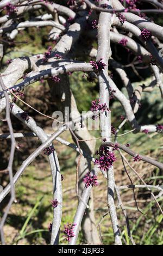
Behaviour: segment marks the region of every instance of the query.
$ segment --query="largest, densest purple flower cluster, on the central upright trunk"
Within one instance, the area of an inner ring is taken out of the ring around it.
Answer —
[[[99,164],[99,168],[101,170],[107,171],[112,166],[112,164],[116,161],[116,157],[114,153],[108,149],[108,147],[105,147],[102,150],[103,152],[99,156],[99,159],[96,158],[94,163]],[[99,155],[98,152],[96,154]]]

